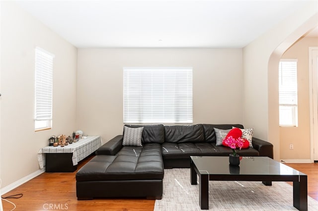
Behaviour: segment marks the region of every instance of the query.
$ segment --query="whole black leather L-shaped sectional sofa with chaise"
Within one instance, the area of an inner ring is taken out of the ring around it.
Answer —
[[[101,146],[76,174],[78,200],[96,197],[161,199],[164,168],[190,167],[190,156],[229,156],[216,146],[214,128],[243,128],[241,124],[126,125],[144,127],[142,147],[123,146],[118,135]],[[253,148],[240,156],[273,158],[273,145],[253,137]]]

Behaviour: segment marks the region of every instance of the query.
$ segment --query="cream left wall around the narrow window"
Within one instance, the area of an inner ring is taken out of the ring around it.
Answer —
[[[76,129],[77,49],[14,2],[1,1],[1,188],[39,169],[51,135]],[[35,47],[53,54],[53,128],[34,132]],[[3,193],[2,193],[3,194]]]

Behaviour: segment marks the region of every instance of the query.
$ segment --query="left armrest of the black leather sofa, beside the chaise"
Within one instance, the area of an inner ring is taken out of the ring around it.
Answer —
[[[110,155],[114,156],[118,153],[118,151],[123,147],[123,136],[118,135],[111,140],[109,140],[107,143],[103,144],[101,147],[99,147],[95,154],[96,155]]]

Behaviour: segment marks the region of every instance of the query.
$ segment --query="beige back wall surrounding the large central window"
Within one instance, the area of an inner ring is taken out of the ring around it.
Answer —
[[[243,123],[241,49],[79,49],[78,128],[123,131],[123,67],[193,67],[193,123]]]

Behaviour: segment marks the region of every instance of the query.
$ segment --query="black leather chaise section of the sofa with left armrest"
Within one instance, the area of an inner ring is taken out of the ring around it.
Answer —
[[[160,144],[121,146],[118,151],[122,140],[122,136],[116,136],[107,142],[79,169],[76,174],[78,200],[95,197],[161,199],[163,161]]]

